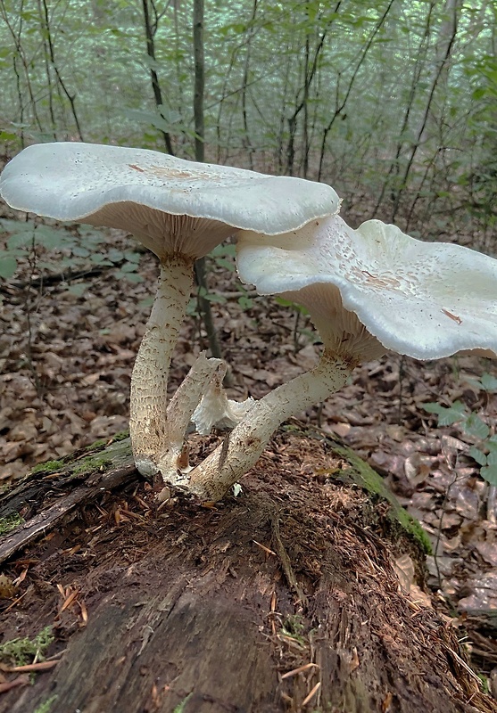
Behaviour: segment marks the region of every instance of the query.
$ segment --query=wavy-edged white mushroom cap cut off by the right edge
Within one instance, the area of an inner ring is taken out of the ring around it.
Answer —
[[[475,250],[332,216],[277,237],[239,234],[236,263],[261,294],[307,307],[338,354],[497,356],[497,260]]]

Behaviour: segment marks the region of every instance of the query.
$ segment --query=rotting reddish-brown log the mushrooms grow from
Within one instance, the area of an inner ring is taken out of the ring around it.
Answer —
[[[51,625],[58,660],[0,713],[497,710],[458,631],[402,591],[394,560],[422,579],[422,541],[343,445],[280,432],[243,493],[209,508],[157,507],[126,441],[95,458],[0,498],[0,517],[26,520],[0,539],[21,579],[3,641]]]

